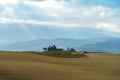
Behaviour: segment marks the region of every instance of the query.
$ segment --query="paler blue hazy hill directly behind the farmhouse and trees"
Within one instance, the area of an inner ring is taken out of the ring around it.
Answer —
[[[57,39],[40,39],[32,41],[24,41],[13,44],[0,46],[0,50],[9,51],[42,51],[43,47],[55,44],[58,47],[67,49],[79,47],[88,43],[92,43],[87,39],[71,39],[71,38],[57,38]]]

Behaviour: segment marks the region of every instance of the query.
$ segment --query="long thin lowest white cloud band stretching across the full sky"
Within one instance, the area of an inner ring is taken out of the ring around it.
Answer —
[[[10,23],[17,23],[17,24],[31,24],[31,25],[38,25],[38,26],[54,26],[54,27],[89,27],[89,28],[96,28],[108,32],[117,32],[120,33],[120,28],[117,25],[110,24],[110,23],[66,23],[66,22],[57,22],[57,21],[40,21],[40,20],[32,20],[32,19],[11,19],[6,17],[0,17],[1,24],[10,24]]]

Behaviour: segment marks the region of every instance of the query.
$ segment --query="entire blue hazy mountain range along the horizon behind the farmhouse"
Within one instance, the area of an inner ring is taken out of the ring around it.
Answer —
[[[0,46],[7,51],[42,51],[44,47],[55,44],[60,48],[75,48],[78,51],[120,53],[120,38],[104,39],[39,39]]]

